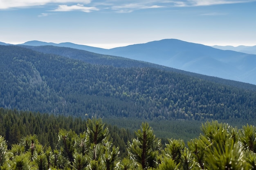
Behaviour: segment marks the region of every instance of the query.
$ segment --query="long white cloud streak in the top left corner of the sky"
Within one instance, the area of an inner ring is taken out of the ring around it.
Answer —
[[[49,3],[83,3],[89,4],[91,0],[0,0],[0,9],[33,7]]]

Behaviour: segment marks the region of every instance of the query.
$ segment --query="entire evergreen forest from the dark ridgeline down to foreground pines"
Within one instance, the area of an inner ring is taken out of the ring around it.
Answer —
[[[0,46],[1,170],[254,170],[256,86],[54,46]]]

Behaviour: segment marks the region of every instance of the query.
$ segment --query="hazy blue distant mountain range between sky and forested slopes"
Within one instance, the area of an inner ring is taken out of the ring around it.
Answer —
[[[203,75],[256,84],[256,55],[224,50],[224,47],[221,50],[216,49],[218,46],[213,48],[176,39],[165,39],[113,49],[101,49],[69,42],[55,44],[30,41],[19,45],[70,47],[94,53],[151,62]],[[247,49],[248,51],[249,47],[242,47],[240,46],[239,50],[246,51]],[[250,50],[252,51],[252,49],[253,47]]]

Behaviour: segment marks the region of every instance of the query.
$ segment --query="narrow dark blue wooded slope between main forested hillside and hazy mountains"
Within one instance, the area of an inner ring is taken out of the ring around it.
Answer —
[[[76,60],[81,60],[83,62],[87,62],[90,64],[101,64],[107,66],[115,66],[115,67],[150,67],[150,68],[157,68],[164,71],[172,71],[175,73],[182,73],[184,75],[189,75],[193,77],[198,77],[201,79],[209,80],[211,82],[216,82],[220,84],[231,85],[234,87],[245,88],[256,90],[256,86],[248,83],[243,82],[236,82],[228,79],[222,79],[218,77],[206,76],[197,73],[191,73],[187,71],[182,71],[179,69],[161,66],[158,64],[153,64],[149,62],[143,62],[138,60],[132,60],[125,57],[116,57],[112,55],[102,55],[97,53],[92,53],[89,51],[78,50],[78,49],[71,49],[67,47],[57,47],[57,46],[23,46],[28,49],[32,49],[34,51],[48,53],[48,54],[55,54],[61,55],[63,57],[68,57]],[[207,65],[204,65],[207,67]]]

